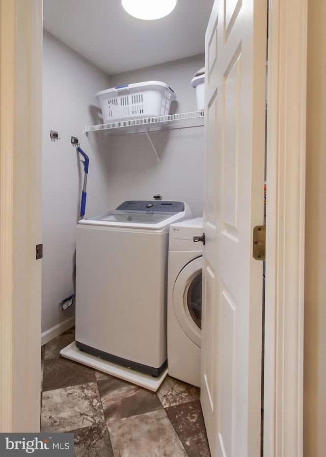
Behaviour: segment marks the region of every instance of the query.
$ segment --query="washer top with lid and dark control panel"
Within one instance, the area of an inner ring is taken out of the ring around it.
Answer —
[[[183,201],[127,200],[115,210],[78,223],[159,230],[191,216],[191,210]]]

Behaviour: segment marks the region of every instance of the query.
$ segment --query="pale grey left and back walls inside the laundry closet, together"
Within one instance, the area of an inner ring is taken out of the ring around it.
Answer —
[[[88,154],[86,217],[102,214],[126,199],[184,200],[194,216],[202,215],[203,127],[155,132],[151,139],[160,156],[156,162],[145,134],[111,137],[84,134],[84,124],[101,123],[94,97],[116,85],[163,81],[177,94],[170,113],[197,110],[194,73],[204,66],[195,56],[108,77],[61,41],[44,32],[43,42],[43,163],[42,163],[42,334],[43,342],[73,319],[74,307],[60,302],[74,292],[75,227],[79,218],[84,166],[70,137],[78,137]],[[51,140],[50,130],[59,132]],[[72,321],[73,323],[73,321]],[[52,329],[52,333],[50,330]],[[54,332],[54,333],[53,333]],[[45,336],[48,335],[48,338]]]

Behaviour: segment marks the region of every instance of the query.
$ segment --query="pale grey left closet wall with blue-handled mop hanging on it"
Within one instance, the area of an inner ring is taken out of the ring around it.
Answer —
[[[108,75],[47,32],[43,35],[42,333],[74,315],[60,301],[74,292],[75,227],[84,180],[75,136],[89,156],[86,215],[107,206],[107,153],[102,137],[87,138],[84,124],[98,122],[97,91]],[[50,139],[50,130],[59,140]]]

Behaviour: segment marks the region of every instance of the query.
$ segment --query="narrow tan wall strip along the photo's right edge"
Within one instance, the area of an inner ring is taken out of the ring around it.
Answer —
[[[326,3],[308,2],[304,457],[326,449]]]

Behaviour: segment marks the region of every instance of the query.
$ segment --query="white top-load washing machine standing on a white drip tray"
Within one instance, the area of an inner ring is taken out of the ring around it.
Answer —
[[[128,200],[78,222],[77,348],[146,375],[166,370],[169,226],[191,216],[182,201]]]

